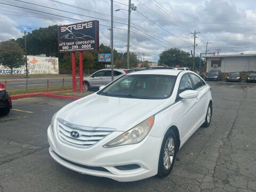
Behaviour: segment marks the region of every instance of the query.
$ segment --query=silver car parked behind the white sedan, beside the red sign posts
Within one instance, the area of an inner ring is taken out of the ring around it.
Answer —
[[[130,72],[130,69],[114,69],[114,79]],[[111,82],[111,69],[100,69],[88,77],[84,77],[83,90],[88,91],[90,87],[100,87]]]

